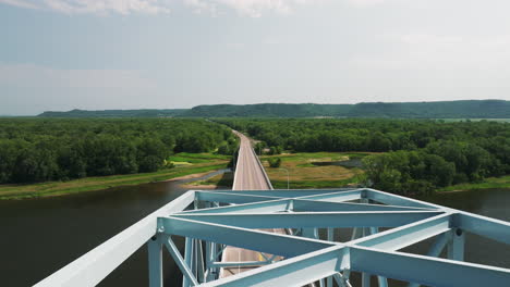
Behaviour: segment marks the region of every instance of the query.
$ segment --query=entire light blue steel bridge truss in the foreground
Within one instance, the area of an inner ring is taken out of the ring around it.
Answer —
[[[345,227],[352,239],[333,241],[335,229]],[[326,238],[318,228],[327,228]],[[463,261],[466,232],[510,244],[508,222],[374,189],[191,190],[36,286],[96,285],[145,244],[150,287],[162,286],[163,248],[184,287],[351,286],[351,272],[362,273],[362,286],[372,275],[378,286],[387,278],[413,287],[510,286],[509,269]],[[184,255],[172,236],[185,237]],[[399,251],[433,237],[426,255]],[[259,261],[221,262],[226,246],[258,251]],[[444,249],[447,259],[439,258]],[[234,266],[251,269],[218,279],[220,269]]]

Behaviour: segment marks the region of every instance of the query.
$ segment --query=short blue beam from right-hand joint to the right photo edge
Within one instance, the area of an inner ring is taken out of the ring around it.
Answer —
[[[461,212],[454,215],[457,228],[467,230],[510,245],[510,223],[473,213]]]

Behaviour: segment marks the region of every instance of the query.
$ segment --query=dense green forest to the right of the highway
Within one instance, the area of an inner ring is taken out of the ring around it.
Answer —
[[[398,194],[510,174],[510,124],[425,120],[241,120],[219,122],[295,152],[385,152],[364,160],[368,186]]]

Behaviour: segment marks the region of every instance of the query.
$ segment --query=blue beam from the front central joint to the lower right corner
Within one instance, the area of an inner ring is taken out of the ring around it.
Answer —
[[[427,286],[508,286],[510,270],[369,248],[350,248],[351,269]]]

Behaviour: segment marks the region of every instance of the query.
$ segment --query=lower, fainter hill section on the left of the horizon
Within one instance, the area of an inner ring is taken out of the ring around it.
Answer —
[[[38,116],[42,117],[168,117],[175,116],[186,111],[186,109],[169,110],[105,110],[86,111],[72,110],[69,112],[44,112]]]

